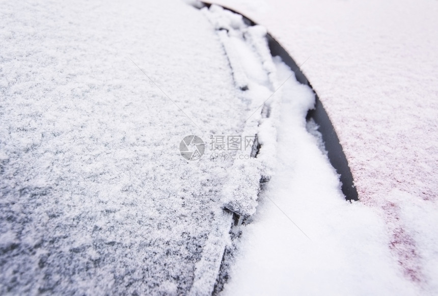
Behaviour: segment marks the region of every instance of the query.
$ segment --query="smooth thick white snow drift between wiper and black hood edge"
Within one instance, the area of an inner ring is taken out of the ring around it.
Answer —
[[[277,60],[279,79],[290,70]],[[280,75],[282,74],[282,75]],[[306,129],[313,92],[289,79],[282,87],[278,166],[241,226],[225,295],[418,293],[387,248],[382,219],[345,201],[318,139]]]

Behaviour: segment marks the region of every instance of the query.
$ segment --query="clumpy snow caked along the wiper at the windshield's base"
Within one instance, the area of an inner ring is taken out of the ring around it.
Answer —
[[[272,58],[270,55],[267,32],[263,26],[251,26],[245,23],[241,15],[215,5],[203,8],[202,12],[220,37],[235,86],[241,90],[240,99],[247,103],[249,112],[245,115],[242,134],[255,135],[256,139],[252,146],[237,152],[222,190],[223,208],[234,213],[237,218],[235,224],[239,227],[242,221],[250,221],[249,218],[256,212],[261,186],[270,179],[276,165],[276,126],[279,124],[282,100],[279,87],[284,83],[277,77],[277,68],[279,65],[287,66],[278,57]],[[288,78],[292,76],[293,73],[290,73]],[[294,77],[292,79],[295,80]],[[305,109],[302,118],[314,104],[314,95],[310,88],[308,91],[310,95],[300,97],[304,99]],[[251,157],[239,157],[244,155]],[[228,227],[223,230],[222,241],[227,244],[209,244],[217,247],[210,248],[209,253],[204,252],[197,265],[192,291],[211,293],[212,283],[214,293],[222,290],[228,278],[229,266],[233,263],[232,252],[237,249],[235,240],[240,236],[239,229],[230,230]],[[215,261],[216,258],[222,258],[222,262]],[[214,268],[212,260],[216,264]],[[217,270],[217,263],[222,263],[220,270]]]

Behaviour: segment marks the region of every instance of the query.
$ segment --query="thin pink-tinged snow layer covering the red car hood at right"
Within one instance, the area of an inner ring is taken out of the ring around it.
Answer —
[[[400,274],[395,282],[414,287],[404,293],[436,294],[437,3],[216,3],[265,25],[298,65],[305,62],[301,68],[335,126],[361,203],[377,215],[368,223],[381,224],[375,230],[384,235],[378,240],[380,249],[386,248],[394,257],[382,264],[385,269],[390,266],[391,273],[393,265],[398,265]],[[324,223],[336,214],[327,213]],[[360,226],[358,229],[362,231]],[[341,231],[337,235],[339,244],[359,245]],[[318,270],[318,266],[314,268]],[[392,279],[391,273],[382,276]],[[372,285],[381,287],[377,293],[396,293],[378,283],[375,279]]]

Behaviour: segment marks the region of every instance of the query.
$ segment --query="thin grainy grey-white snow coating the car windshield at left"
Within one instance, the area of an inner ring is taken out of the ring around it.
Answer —
[[[213,26],[179,1],[0,7],[0,293],[188,293],[232,162],[179,143],[247,115]]]

